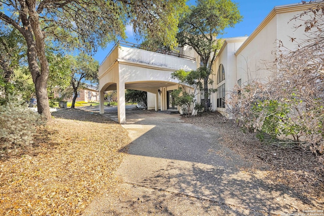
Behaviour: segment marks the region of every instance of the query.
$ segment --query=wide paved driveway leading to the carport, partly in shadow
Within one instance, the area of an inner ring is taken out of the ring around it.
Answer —
[[[183,123],[179,115],[129,109],[126,117],[123,126],[133,142],[116,174],[124,184],[116,195],[96,199],[85,215],[284,215],[308,209],[292,188],[251,171],[248,161],[220,144],[216,131]]]

